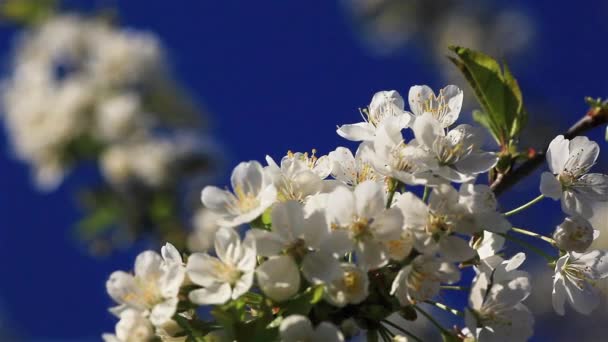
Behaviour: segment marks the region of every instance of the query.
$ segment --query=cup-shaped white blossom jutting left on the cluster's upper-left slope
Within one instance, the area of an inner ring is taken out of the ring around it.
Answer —
[[[255,220],[277,198],[277,190],[256,161],[237,165],[230,183],[234,194],[215,186],[206,186],[201,194],[203,205],[221,217],[218,222],[224,227]]]

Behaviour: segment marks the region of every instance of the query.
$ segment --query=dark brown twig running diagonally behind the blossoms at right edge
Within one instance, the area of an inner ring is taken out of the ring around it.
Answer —
[[[572,139],[578,135],[608,123],[608,111],[601,108],[591,108],[585,116],[583,116],[578,122],[572,125],[564,137],[566,139]],[[545,154],[549,144],[543,148],[542,152],[536,153],[534,156],[523,162],[519,167],[511,170],[510,172],[497,177],[496,181],[492,183],[492,190],[496,196],[502,195],[506,190],[517,184],[520,180],[534,172],[540,167],[545,161]]]

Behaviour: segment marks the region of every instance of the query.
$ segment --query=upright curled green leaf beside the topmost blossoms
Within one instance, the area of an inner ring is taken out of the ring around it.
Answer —
[[[471,49],[450,47],[457,57],[449,59],[460,69],[482,110],[473,118],[486,127],[496,142],[506,147],[516,140],[527,121],[521,89],[508,66]]]

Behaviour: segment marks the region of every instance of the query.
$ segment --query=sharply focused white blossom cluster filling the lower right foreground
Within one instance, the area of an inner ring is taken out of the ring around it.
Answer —
[[[456,125],[462,101],[456,86],[438,94],[414,86],[407,111],[399,93],[382,91],[361,111],[364,121],[338,127],[359,142],[355,153],[338,147],[321,157],[289,152],[279,163],[240,163],[230,190],[202,191],[213,213],[197,239],[207,251],[182,256],[168,244],[161,255],[142,253],[134,275],[110,277],[120,322],[106,340],[254,340],[242,335],[251,332],[343,341],[366,331],[420,341],[389,319],[420,312],[432,320],[423,309],[430,304],[464,318],[452,330],[433,320],[444,337],[525,341],[534,324],[524,303],[531,278],[520,269],[526,254],[503,251],[517,233],[549,242],[557,255],[539,252],[555,268],[555,311],[564,314],[567,301],[590,313],[594,282],[608,277],[606,252],[588,250],[597,236],[590,204],[608,200],[608,177],[589,173],[597,144],[555,138],[543,195],[502,213],[491,188],[476,183],[498,154],[483,149],[482,131]],[[544,196],[561,200],[567,215],[552,237],[512,227],[509,216]],[[472,283],[463,286],[469,267]],[[436,302],[446,288],[467,291],[467,307]],[[203,317],[206,306],[212,318]]]

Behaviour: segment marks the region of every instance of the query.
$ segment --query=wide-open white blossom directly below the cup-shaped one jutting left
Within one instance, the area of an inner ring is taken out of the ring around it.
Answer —
[[[241,242],[234,229],[221,228],[215,234],[215,253],[217,258],[206,253],[194,253],[188,258],[188,277],[202,286],[190,292],[193,303],[224,304],[249,291],[253,284],[256,247],[251,234]]]

